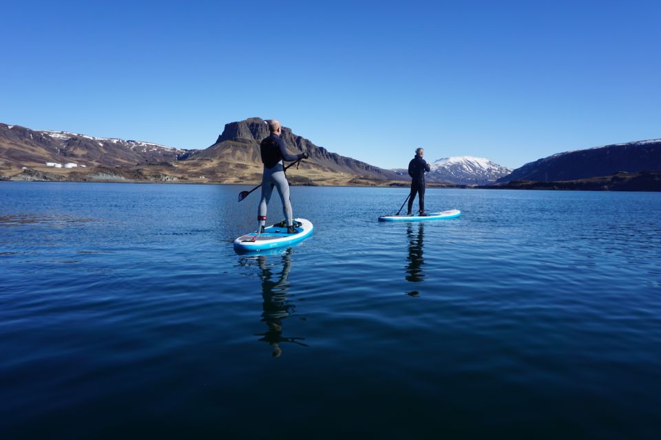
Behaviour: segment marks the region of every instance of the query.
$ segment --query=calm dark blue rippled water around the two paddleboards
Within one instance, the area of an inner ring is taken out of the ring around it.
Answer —
[[[0,437],[660,438],[660,193],[244,189],[0,182]]]

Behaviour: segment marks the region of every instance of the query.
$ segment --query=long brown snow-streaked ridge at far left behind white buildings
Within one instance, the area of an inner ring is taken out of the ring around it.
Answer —
[[[0,124],[0,170],[45,166],[46,162],[78,166],[133,166],[175,162],[195,151],[151,142],[94,137],[66,131],[30,130]]]

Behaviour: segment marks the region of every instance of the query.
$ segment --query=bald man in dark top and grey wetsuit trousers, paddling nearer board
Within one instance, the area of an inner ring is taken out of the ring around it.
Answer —
[[[282,200],[282,212],[287,222],[287,233],[295,234],[297,231],[293,226],[293,214],[291,211],[291,202],[289,201],[289,183],[284,174],[282,161],[293,162],[295,160],[307,159],[308,153],[300,153],[298,155],[287,153],[284,140],[280,137],[282,134],[280,121],[270,120],[268,124],[271,135],[264,138],[260,144],[262,162],[264,163],[264,175],[262,175],[262,199],[260,200],[257,219],[260,224],[260,231],[264,232],[264,225],[266,225],[266,206],[269,204],[269,200],[271,200],[271,193],[273,192],[273,186],[275,186],[277,193],[280,195],[280,200]]]

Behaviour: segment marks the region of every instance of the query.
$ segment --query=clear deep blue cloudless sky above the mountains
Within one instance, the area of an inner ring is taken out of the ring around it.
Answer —
[[[0,122],[206,148],[277,118],[385,168],[661,137],[659,1],[220,3],[3,3]]]

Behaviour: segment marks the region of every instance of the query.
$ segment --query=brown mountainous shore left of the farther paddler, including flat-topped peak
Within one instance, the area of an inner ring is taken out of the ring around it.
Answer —
[[[268,135],[264,120],[249,118],[226,124],[209,148],[182,150],[150,142],[0,124],[0,179],[256,184],[262,178],[259,145]],[[286,127],[283,138],[288,151],[306,151],[310,156],[300,167],[288,171],[294,184],[403,184],[390,170],[330,153]],[[65,168],[65,164],[72,168]]]

